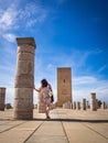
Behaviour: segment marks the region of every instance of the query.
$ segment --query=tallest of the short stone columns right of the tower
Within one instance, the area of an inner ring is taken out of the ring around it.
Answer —
[[[90,94],[90,110],[97,111],[96,94],[95,92]]]

